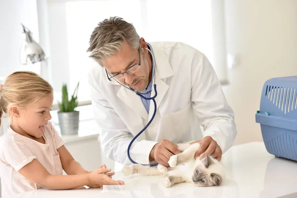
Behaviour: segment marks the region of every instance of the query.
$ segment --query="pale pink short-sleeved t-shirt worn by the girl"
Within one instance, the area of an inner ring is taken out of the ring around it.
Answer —
[[[65,142],[50,122],[45,126],[45,130],[43,137],[46,144],[17,134],[10,127],[7,133],[0,137],[0,178],[3,197],[42,188],[18,172],[33,159],[37,159],[50,174],[63,174],[57,148]]]

